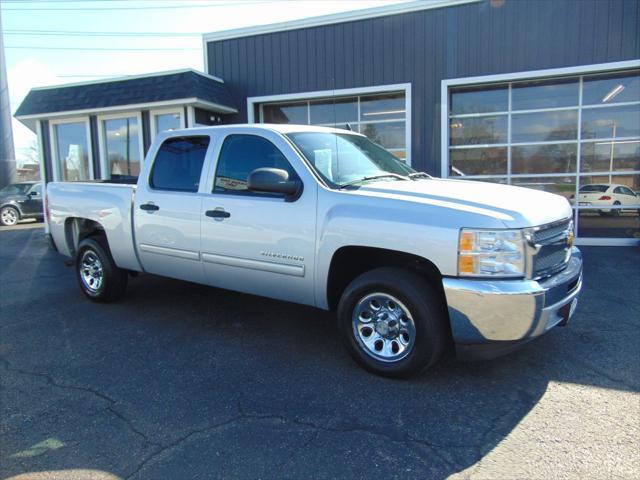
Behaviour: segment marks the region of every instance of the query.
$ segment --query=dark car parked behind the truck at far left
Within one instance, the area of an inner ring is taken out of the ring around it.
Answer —
[[[42,182],[20,182],[0,190],[0,224],[12,226],[25,218],[42,220]]]

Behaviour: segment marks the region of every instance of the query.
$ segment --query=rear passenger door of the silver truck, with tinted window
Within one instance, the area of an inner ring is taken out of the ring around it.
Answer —
[[[200,262],[201,178],[209,135],[169,136],[145,165],[134,202],[135,240],[146,272],[206,283]]]

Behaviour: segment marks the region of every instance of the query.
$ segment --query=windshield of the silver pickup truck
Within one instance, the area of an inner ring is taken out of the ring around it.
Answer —
[[[333,187],[380,175],[389,175],[381,180],[393,181],[398,179],[393,175],[406,176],[415,172],[384,148],[360,135],[300,132],[290,133],[287,137]]]

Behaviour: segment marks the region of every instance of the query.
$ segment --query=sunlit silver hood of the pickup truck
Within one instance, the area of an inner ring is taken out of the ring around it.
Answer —
[[[571,205],[560,195],[479,181],[380,181],[363,185],[358,193],[475,213],[495,218],[507,228],[544,225],[572,215]]]

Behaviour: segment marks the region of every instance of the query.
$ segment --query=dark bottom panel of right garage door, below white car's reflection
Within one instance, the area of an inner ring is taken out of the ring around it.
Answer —
[[[640,239],[640,216],[637,210],[580,209],[578,212],[580,237]]]

